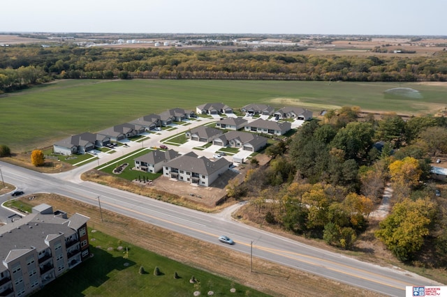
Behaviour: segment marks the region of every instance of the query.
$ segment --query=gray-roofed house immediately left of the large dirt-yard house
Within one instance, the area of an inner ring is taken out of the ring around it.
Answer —
[[[180,154],[170,149],[168,151],[151,151],[146,155],[141,155],[138,158],[133,159],[135,162],[135,169],[142,172],[159,172],[163,165],[169,160],[177,158]]]

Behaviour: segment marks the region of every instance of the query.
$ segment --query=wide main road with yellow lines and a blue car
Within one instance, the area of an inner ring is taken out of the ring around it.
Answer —
[[[70,174],[67,173],[41,174],[4,162],[0,162],[0,166],[4,181],[16,185],[27,194],[54,192],[94,205],[98,205],[99,197],[101,207],[104,209],[220,245],[225,244],[219,243],[217,237],[227,235],[233,238],[235,245],[225,246],[247,253],[247,257],[253,245],[254,257],[268,259],[388,296],[404,296],[406,286],[437,285],[432,280],[399,268],[383,268],[367,264],[342,254],[314,248],[228,220],[222,215],[200,213],[104,185],[81,181],[79,178],[68,178]],[[71,174],[78,174],[80,171],[81,169],[75,169]],[[10,195],[3,195],[0,201],[9,198]],[[256,271],[256,267],[254,270]]]

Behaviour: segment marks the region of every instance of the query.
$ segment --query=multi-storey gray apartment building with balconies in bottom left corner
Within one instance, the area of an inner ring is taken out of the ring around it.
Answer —
[[[87,218],[41,204],[0,226],[0,296],[27,296],[89,259]]]

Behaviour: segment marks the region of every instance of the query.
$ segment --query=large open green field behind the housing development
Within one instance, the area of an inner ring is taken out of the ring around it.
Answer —
[[[408,87],[422,98],[385,96]],[[411,83],[277,82],[231,80],[61,80],[0,96],[0,144],[13,151],[50,146],[64,137],[97,132],[173,107],[196,109],[207,102],[233,108],[249,103],[322,109],[360,106],[371,111],[431,114],[444,109],[446,86]]]

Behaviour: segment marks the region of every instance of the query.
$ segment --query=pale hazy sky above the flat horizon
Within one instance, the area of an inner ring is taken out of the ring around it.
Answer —
[[[13,0],[0,32],[447,36],[447,0]]]

